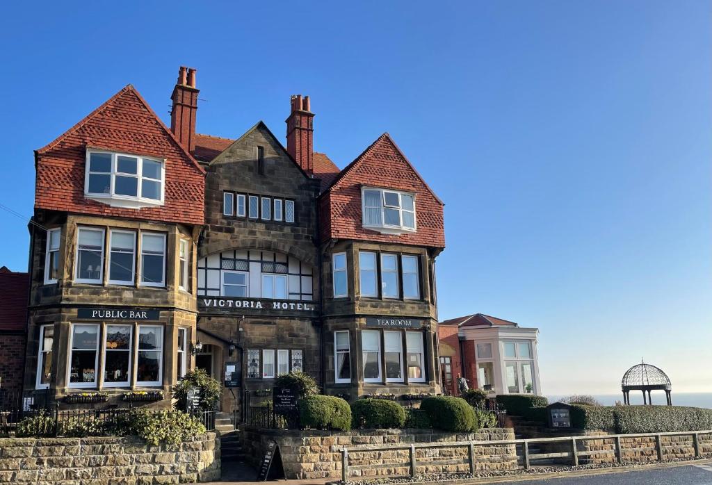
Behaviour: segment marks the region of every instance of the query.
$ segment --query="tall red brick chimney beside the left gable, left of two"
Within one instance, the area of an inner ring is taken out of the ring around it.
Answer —
[[[198,111],[195,70],[181,66],[171,100],[171,131],[187,151],[195,149],[195,115]]]

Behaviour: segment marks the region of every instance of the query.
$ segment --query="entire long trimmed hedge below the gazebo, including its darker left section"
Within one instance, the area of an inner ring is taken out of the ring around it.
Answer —
[[[712,430],[712,410],[684,406],[572,405],[571,425],[619,435]]]

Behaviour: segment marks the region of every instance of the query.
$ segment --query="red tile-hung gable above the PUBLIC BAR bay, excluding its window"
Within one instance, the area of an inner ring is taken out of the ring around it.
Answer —
[[[164,205],[132,210],[85,198],[87,147],[165,159]],[[131,85],[37,150],[35,156],[36,208],[128,219],[203,223],[205,171]]]

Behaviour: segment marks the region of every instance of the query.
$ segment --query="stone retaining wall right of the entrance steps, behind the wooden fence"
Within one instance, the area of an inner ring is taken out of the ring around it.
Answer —
[[[412,443],[441,443],[456,441],[493,441],[514,439],[510,429],[488,429],[475,433],[441,433],[432,430],[359,430],[351,432],[335,431],[284,431],[263,430],[241,425],[241,442],[248,459],[258,464],[263,457],[269,439],[279,444],[284,473],[287,479],[341,478],[341,449],[360,445],[388,445]],[[514,445],[475,447],[476,470],[510,470],[517,468]],[[470,471],[468,447],[443,447],[416,449],[417,474],[425,473],[467,473]],[[350,466],[368,465],[363,469],[352,469],[352,477],[375,477],[382,475],[409,474],[409,452],[405,450],[384,450],[374,452],[352,452]],[[452,461],[442,464],[438,462]],[[392,467],[371,468],[392,464]]]

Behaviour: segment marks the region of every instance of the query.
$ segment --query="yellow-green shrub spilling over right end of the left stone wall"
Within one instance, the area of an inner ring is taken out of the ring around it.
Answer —
[[[178,444],[202,435],[205,427],[186,412],[137,410],[131,413],[127,431],[130,435],[142,437],[149,444]]]

